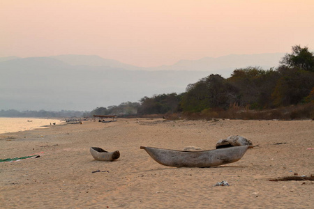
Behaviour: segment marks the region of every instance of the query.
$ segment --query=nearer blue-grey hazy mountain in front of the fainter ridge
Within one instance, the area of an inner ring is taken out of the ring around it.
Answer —
[[[0,63],[0,109],[92,110],[181,93],[208,72],[123,70],[70,65],[49,57]]]

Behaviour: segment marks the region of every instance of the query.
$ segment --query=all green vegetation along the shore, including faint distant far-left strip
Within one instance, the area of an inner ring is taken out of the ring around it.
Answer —
[[[81,116],[163,115],[167,118],[243,118],[243,119],[314,119],[314,55],[308,47],[292,47],[281,65],[274,69],[260,67],[236,69],[225,79],[209,75],[186,92],[160,94],[139,102],[124,102],[119,106],[97,107]],[[21,116],[21,113],[0,111],[0,116]],[[64,114],[64,112],[63,112]],[[25,111],[24,116],[61,116],[60,112]]]

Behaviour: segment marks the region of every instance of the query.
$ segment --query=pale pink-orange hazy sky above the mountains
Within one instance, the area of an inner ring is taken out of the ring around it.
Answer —
[[[1,0],[0,57],[96,54],[138,66],[314,48],[313,0]]]

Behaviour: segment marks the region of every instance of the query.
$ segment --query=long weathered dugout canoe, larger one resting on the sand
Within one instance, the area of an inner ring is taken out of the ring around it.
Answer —
[[[237,162],[248,150],[248,146],[236,146],[204,151],[167,150],[141,146],[156,160],[168,167],[215,167],[222,164]]]

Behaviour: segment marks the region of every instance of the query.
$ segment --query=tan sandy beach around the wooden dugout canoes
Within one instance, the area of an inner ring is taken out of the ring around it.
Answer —
[[[214,149],[230,135],[255,148],[219,167],[165,167],[140,149]],[[0,163],[0,208],[313,208],[313,181],[269,181],[313,174],[313,140],[314,121],[118,118],[0,134],[1,159],[40,155]],[[121,157],[96,161],[91,146]]]

